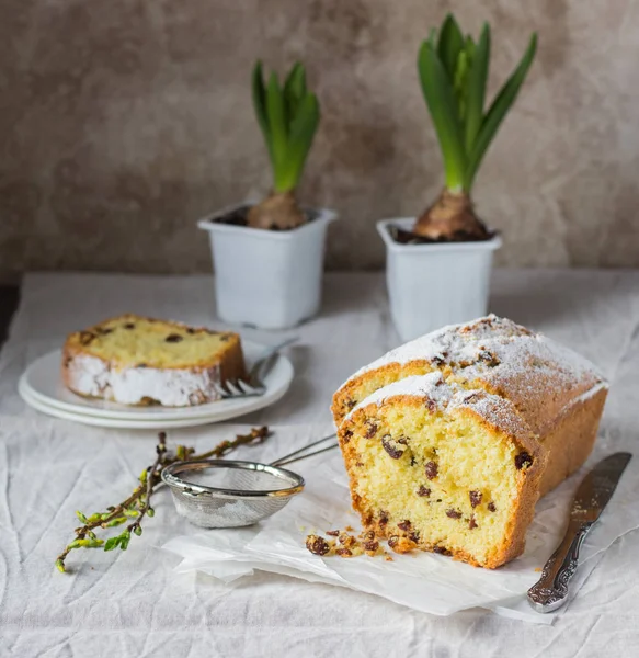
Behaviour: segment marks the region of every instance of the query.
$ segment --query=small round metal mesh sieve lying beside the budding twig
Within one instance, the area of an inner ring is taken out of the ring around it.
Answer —
[[[304,489],[304,478],[281,468],[338,446],[315,441],[271,464],[232,460],[175,462],[162,470],[178,513],[201,527],[242,527],[278,512]],[[311,452],[308,452],[311,451]],[[184,476],[186,479],[184,479]]]

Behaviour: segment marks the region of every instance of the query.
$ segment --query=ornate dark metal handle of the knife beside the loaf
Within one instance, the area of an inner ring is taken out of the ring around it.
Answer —
[[[557,551],[548,558],[541,578],[528,590],[528,602],[537,612],[552,612],[568,601],[568,583],[579,564],[579,549],[593,523],[569,525]]]

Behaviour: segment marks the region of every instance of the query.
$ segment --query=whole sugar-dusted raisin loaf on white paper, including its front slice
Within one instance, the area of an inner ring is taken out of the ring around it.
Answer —
[[[333,398],[354,508],[396,551],[498,567],[589,456],[606,393],[590,362],[495,316],[407,343]]]

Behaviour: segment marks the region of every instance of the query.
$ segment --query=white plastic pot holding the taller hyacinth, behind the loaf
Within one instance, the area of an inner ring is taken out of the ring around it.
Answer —
[[[414,218],[386,219],[377,230],[386,243],[390,313],[402,340],[486,315],[492,253],[499,237],[483,242],[401,245],[388,227],[411,230]]]

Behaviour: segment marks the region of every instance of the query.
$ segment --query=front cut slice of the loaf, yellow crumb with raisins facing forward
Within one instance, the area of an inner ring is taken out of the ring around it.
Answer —
[[[524,548],[546,453],[509,400],[411,376],[344,420],[340,445],[364,530],[495,568]]]

